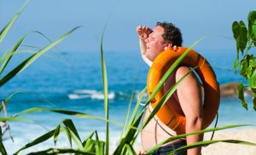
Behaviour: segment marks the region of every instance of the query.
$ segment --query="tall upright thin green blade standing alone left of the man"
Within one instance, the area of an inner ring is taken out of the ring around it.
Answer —
[[[105,27],[106,28],[106,27]],[[103,36],[104,31],[102,32],[102,41],[101,41],[101,58],[102,58],[102,79],[103,79],[103,92],[104,92],[104,108],[105,108],[105,118],[108,120],[108,77],[107,77],[107,69],[103,55]],[[106,122],[106,155],[108,155],[109,151],[109,125]]]

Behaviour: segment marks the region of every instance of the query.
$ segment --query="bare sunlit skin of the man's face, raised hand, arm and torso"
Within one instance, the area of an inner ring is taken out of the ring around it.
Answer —
[[[161,26],[154,27],[153,30],[148,26],[137,26],[137,34],[140,40],[140,48],[142,55],[148,60],[153,61],[157,55],[159,55],[165,49],[173,49],[172,43],[165,42],[162,35],[164,34],[164,28]],[[164,90],[167,91],[172,87],[174,83],[189,72],[189,67],[179,66],[177,70],[172,73],[170,78],[164,85]],[[187,78],[183,80],[183,83],[179,85],[177,91],[171,96],[166,103],[179,114],[186,117],[186,133],[195,132],[203,128],[203,112],[201,104],[201,86],[194,74],[189,74]],[[145,112],[143,121],[148,117],[149,110]],[[160,122],[160,120],[158,120]],[[166,140],[171,135],[178,135],[183,133],[176,133],[172,129],[169,129],[163,123],[160,123],[163,127],[156,124],[156,121],[152,119],[150,123],[143,129],[142,132],[142,144],[143,149],[148,150],[161,141]],[[168,133],[166,133],[166,131]],[[171,134],[171,135],[169,135]],[[201,141],[203,135],[189,135],[186,138],[187,144],[192,144]],[[180,141],[180,140],[177,140]],[[174,142],[174,141],[172,141]],[[200,154],[201,147],[188,150],[189,155]]]

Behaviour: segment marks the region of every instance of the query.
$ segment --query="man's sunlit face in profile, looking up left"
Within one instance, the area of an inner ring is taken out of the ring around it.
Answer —
[[[154,27],[153,32],[151,32],[146,42],[146,53],[145,56],[149,60],[154,60],[157,55],[159,55],[165,49],[164,39],[162,35],[164,34],[164,28],[161,26]]]

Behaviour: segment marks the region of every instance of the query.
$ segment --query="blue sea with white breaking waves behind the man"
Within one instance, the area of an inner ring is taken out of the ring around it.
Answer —
[[[243,80],[233,71],[235,50],[199,52],[212,64],[220,84]],[[137,95],[146,85],[148,66],[143,62],[138,51],[105,51],[104,55],[108,72],[109,118],[123,123],[132,90],[135,88],[133,107],[137,102]],[[29,55],[26,53],[15,55],[14,60],[10,62],[9,70],[27,56]],[[84,112],[104,118],[100,51],[50,51],[3,85],[0,89],[1,98],[6,99],[16,91],[20,93],[15,94],[7,104],[8,116],[32,107],[47,107]],[[222,98],[218,111],[218,126],[237,123],[256,124],[256,112],[252,110],[251,96],[247,96],[247,102],[248,111],[241,107],[236,97]],[[36,123],[9,122],[10,132],[4,134],[5,141],[3,141],[9,153],[17,151],[48,130],[55,129],[65,118],[73,119],[82,140],[96,129],[102,141],[105,141],[105,123],[102,121],[75,118],[55,112],[28,113],[20,118],[32,119]],[[119,141],[120,130],[121,126],[110,124],[111,150]],[[14,142],[11,141],[10,135],[14,138]],[[63,133],[57,146],[69,146],[68,144],[67,137]],[[139,146],[139,141],[137,145]],[[33,146],[28,151],[36,152],[49,147],[55,147],[53,139]],[[28,151],[20,153],[25,154]]]

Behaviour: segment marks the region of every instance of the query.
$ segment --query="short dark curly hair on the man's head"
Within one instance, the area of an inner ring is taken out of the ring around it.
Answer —
[[[173,46],[182,46],[183,37],[179,28],[168,22],[157,22],[156,26],[161,26],[165,29],[165,33],[162,35],[165,42],[171,42]]]

